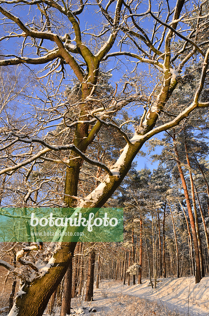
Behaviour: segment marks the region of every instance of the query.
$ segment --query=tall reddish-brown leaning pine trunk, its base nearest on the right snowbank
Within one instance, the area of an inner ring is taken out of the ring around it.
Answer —
[[[192,208],[191,208],[191,204],[190,204],[190,200],[189,200],[189,194],[188,194],[188,189],[187,189],[187,184],[184,178],[184,174],[182,171],[182,167],[181,167],[181,162],[179,159],[179,155],[178,155],[178,150],[177,150],[177,146],[176,146],[176,138],[175,138],[175,129],[173,129],[173,147],[174,147],[174,152],[176,155],[176,163],[177,163],[177,167],[178,167],[178,171],[179,171],[179,175],[182,181],[182,186],[183,186],[183,191],[184,191],[184,196],[186,199],[186,204],[187,204],[187,209],[188,209],[188,214],[189,214],[189,220],[190,220],[190,224],[191,224],[191,228],[192,228],[192,236],[193,236],[193,241],[194,241],[194,252],[195,252],[195,283],[199,283],[201,280],[201,268],[200,268],[200,253],[199,253],[199,245],[198,245],[198,239],[197,239],[197,233],[196,233],[196,227],[195,227],[195,222],[194,222],[194,217],[193,217],[193,213],[192,213]]]

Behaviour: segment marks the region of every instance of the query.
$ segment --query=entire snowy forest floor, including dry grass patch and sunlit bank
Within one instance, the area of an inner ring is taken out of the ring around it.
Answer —
[[[123,285],[121,281],[102,281],[99,289],[94,287],[94,301],[90,304],[96,312],[88,312],[89,302],[80,303],[81,298],[77,297],[72,300],[71,315],[79,315],[78,308],[83,307],[80,315],[209,316],[209,276],[198,284],[193,276],[158,280],[162,282],[158,282],[155,290],[148,286],[148,280],[132,286]]]

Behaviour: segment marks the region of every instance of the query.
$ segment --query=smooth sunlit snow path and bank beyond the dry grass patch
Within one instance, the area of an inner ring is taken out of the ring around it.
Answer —
[[[147,286],[148,280],[132,286],[123,285],[120,281],[101,282],[100,289],[155,301],[159,306],[177,314],[209,315],[209,276],[204,277],[198,284],[195,284],[194,276],[159,280],[161,282],[158,282],[155,290]]]

